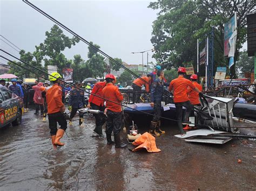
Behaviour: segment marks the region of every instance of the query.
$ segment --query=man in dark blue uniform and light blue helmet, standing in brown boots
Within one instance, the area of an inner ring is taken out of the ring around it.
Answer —
[[[154,80],[151,89],[151,107],[154,108],[154,117],[150,124],[150,134],[159,137],[165,131],[160,130],[160,117],[161,116],[161,101],[164,94],[164,86],[169,86],[169,83],[164,82],[164,71],[157,71],[158,79]]]

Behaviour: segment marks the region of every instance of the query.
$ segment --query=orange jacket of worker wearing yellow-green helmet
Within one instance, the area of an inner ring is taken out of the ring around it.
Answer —
[[[62,87],[54,84],[46,92],[46,101],[48,105],[48,114],[54,114],[63,107],[62,103]]]

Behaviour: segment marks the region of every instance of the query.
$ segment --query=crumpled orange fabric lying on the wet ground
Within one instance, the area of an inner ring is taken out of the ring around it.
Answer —
[[[157,148],[156,144],[156,138],[154,136],[150,135],[150,133],[145,132],[142,136],[134,140],[132,143],[133,145],[139,145],[136,148],[134,148],[132,151],[138,151],[142,148],[145,148],[147,152],[160,152],[161,150]]]

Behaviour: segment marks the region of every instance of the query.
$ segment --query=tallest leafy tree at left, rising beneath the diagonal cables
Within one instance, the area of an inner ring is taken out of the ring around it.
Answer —
[[[43,55],[49,57],[44,59],[44,65],[45,67],[48,65],[57,66],[59,72],[62,72],[62,69],[71,65],[71,62],[61,52],[65,48],[71,48],[72,45],[78,43],[79,39],[77,37],[69,38],[65,36],[57,25],[53,25],[50,32],[46,31],[45,36],[44,43],[39,45],[39,49],[43,52]]]

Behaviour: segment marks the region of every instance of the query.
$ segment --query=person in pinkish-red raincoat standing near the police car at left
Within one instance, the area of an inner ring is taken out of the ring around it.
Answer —
[[[43,82],[39,82],[37,85],[32,86],[33,90],[35,90],[33,97],[33,101],[36,104],[35,115],[39,114],[39,110],[41,110],[41,115],[44,114],[44,98],[42,97],[42,91],[40,90],[41,86],[43,86]]]

